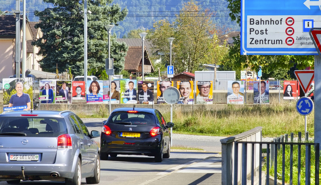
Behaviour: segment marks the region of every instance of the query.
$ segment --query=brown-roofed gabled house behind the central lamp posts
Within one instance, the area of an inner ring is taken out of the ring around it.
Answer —
[[[125,42],[128,51],[125,56],[125,70],[130,73],[142,73],[142,39],[140,38],[117,38],[117,42]],[[155,53],[152,42],[144,41],[144,73],[154,72],[150,55]],[[157,62],[157,61],[156,61]],[[140,74],[141,75],[141,74]]]

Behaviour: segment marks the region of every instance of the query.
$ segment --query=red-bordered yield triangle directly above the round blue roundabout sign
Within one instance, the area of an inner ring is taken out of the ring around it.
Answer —
[[[312,81],[314,80],[314,70],[298,70],[294,71],[294,74],[299,80],[304,93],[307,93]]]

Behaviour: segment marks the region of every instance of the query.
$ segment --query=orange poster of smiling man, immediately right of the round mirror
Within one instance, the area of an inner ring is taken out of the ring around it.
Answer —
[[[194,91],[193,81],[177,81],[177,89],[180,93],[180,98],[177,104],[193,104]]]

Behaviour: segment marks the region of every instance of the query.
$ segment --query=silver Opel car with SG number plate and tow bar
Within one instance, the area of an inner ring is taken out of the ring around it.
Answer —
[[[0,181],[100,181],[99,145],[71,111],[5,111],[0,115]]]

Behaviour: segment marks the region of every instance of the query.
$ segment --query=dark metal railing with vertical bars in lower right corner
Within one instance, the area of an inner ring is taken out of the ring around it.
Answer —
[[[234,156],[239,155],[239,144],[242,145],[242,157],[241,157],[241,181],[239,181],[238,178],[238,158],[234,158],[234,179],[233,184],[237,185],[239,182],[242,185],[247,184],[247,168],[248,164],[251,168],[251,185],[254,184],[254,176],[255,176],[255,166],[253,164],[253,161],[255,159],[255,145],[259,145],[259,161],[262,162],[262,145],[266,144],[266,184],[269,184],[270,181],[270,165],[274,165],[274,184],[277,184],[277,161],[278,161],[278,150],[281,149],[280,146],[282,146],[282,184],[285,184],[285,149],[286,145],[290,145],[290,184],[293,184],[293,146],[298,146],[298,184],[301,184],[301,146],[306,147],[306,155],[305,155],[305,184],[310,185],[311,184],[311,146],[315,147],[315,185],[319,185],[319,157],[320,157],[320,146],[319,143],[301,143],[301,133],[299,132],[299,142],[293,142],[293,133],[291,133],[291,142],[287,142],[287,135],[285,137],[285,141],[283,141],[283,137],[274,139],[274,142],[253,142],[253,141],[236,141],[235,142],[235,149],[234,149]],[[248,145],[250,145],[250,156],[251,161],[247,161],[248,157]],[[271,147],[271,150],[270,150]],[[272,151],[273,149],[273,151]],[[270,152],[271,152],[271,158],[273,160],[270,160]],[[273,156],[272,156],[273,154]],[[270,164],[271,161],[271,164]],[[262,165],[259,166],[258,169],[258,184],[262,184]]]

